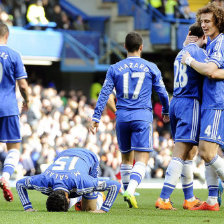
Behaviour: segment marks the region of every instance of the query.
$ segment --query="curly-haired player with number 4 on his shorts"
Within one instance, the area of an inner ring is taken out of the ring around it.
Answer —
[[[199,154],[205,161],[209,192],[207,201],[192,210],[218,211],[218,176],[224,181],[224,161],[217,155],[218,145],[222,145],[224,139],[224,80],[220,74],[224,68],[224,10],[210,3],[199,9],[197,21],[208,37],[208,62],[199,62],[186,53],[182,63],[206,76],[202,93]]]

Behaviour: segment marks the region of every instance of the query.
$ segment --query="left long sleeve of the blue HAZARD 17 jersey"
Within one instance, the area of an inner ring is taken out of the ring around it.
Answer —
[[[103,87],[101,89],[99,98],[96,103],[96,107],[92,117],[93,121],[100,122],[101,115],[106,106],[109,95],[113,91],[113,88],[114,88],[113,67],[111,66],[107,71],[106,79],[104,81]]]

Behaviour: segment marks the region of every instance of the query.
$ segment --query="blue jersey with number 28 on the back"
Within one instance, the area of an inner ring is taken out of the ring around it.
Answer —
[[[201,100],[203,76],[190,66],[181,63],[182,55],[188,51],[199,62],[205,62],[207,53],[197,44],[191,43],[184,47],[174,61],[174,97],[187,97]]]

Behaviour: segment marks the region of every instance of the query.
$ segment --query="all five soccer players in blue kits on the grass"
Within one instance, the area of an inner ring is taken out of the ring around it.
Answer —
[[[224,10],[209,3],[197,12],[197,22],[189,28],[183,49],[174,61],[174,91],[171,102],[158,67],[141,58],[142,37],[130,32],[125,38],[127,58],[111,65],[100,92],[89,131],[96,133],[101,115],[113,90],[116,91],[116,134],[122,156],[121,180],[124,201],[138,208],[135,191],[144,179],[149,153],[153,151],[152,89],[162,103],[164,122],[171,124],[175,147],[155,207],[175,210],[170,196],[181,178],[183,208],[218,211],[224,182],[224,161],[217,154],[224,145]],[[7,201],[13,200],[9,178],[19,160],[21,135],[15,96],[18,82],[25,106],[29,93],[20,55],[6,46],[9,31],[0,24],[0,142],[7,144],[0,187]],[[199,153],[205,161],[208,199],[200,201],[193,193],[192,161]],[[108,212],[121,184],[98,176],[99,161],[88,149],[71,148],[59,153],[42,174],[25,177],[16,189],[25,211],[35,211],[27,190],[48,196],[48,211],[79,210]],[[220,184],[219,184],[220,181]],[[107,191],[102,200],[102,193]]]

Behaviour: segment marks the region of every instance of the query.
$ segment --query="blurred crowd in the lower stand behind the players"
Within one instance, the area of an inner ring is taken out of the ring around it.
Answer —
[[[97,134],[92,135],[87,128],[94,103],[88,103],[82,91],[57,92],[55,88],[43,88],[35,84],[30,86],[30,92],[31,107],[21,113],[23,140],[15,178],[43,172],[57,153],[64,149],[84,147],[98,155],[101,176],[116,179],[121,155],[115,133],[115,120],[108,115],[107,109],[103,113]],[[21,97],[18,100],[19,105],[22,105]],[[174,146],[169,128],[156,115],[157,110],[155,106],[154,151],[150,153],[146,178],[164,177]],[[0,143],[1,162],[5,156],[6,146]],[[200,165],[201,161],[197,163]],[[203,172],[200,170],[200,173]]]

